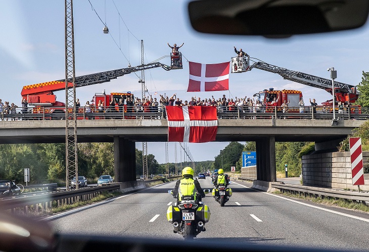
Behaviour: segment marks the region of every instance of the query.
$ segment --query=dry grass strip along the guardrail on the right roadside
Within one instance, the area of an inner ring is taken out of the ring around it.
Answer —
[[[340,207],[340,208],[359,210],[362,212],[369,212],[369,207],[366,206],[365,203],[361,203],[361,202],[354,201],[351,199],[343,199],[343,198],[328,199],[328,198],[320,198],[320,197],[315,198],[315,197],[310,197],[310,196],[305,197],[305,196],[300,196],[297,194],[291,194],[291,193],[286,193],[286,192],[282,193],[279,190],[273,191],[272,193],[287,196],[287,197],[304,199],[304,200],[312,201],[313,203],[316,203],[316,204],[322,204],[326,206],[335,206],[335,207]]]

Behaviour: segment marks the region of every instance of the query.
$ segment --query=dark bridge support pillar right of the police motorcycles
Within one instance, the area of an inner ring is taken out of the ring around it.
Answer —
[[[256,141],[256,179],[275,182],[275,137],[269,136]]]

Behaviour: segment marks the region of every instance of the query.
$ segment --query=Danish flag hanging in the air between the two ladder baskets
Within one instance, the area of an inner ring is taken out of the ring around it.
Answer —
[[[188,92],[228,90],[229,62],[201,64],[189,62]]]

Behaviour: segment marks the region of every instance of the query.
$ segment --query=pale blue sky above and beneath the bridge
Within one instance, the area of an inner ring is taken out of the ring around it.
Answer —
[[[215,98],[252,97],[273,87],[276,90],[301,90],[305,105],[309,98],[318,104],[331,99],[325,90],[284,80],[280,75],[253,69],[229,75],[229,91],[187,92],[188,62],[206,64],[227,62],[236,54],[234,46],[243,48],[256,61],[330,78],[328,68],[337,70],[337,81],[357,85],[362,71],[369,71],[369,24],[359,29],[317,35],[299,35],[287,39],[260,36],[226,36],[201,34],[189,23],[186,1],[74,0],[74,40],[76,76],[141,65],[141,40],[144,40],[145,63],[168,56],[167,43],[184,45],[183,69],[161,68],[145,72],[148,94],[176,93],[189,100],[191,96]],[[25,85],[65,78],[64,0],[0,0],[0,98],[21,106],[20,92]],[[91,6],[92,5],[92,6]],[[98,16],[98,15],[99,16]],[[257,20],[255,20],[257,22]],[[107,25],[110,33],[104,34]],[[237,24],[236,24],[237,25]],[[283,24],[281,24],[283,25]],[[170,64],[168,57],[160,59]],[[81,105],[95,93],[131,91],[141,97],[140,73],[119,77],[111,82],[76,89]],[[65,102],[65,91],[55,93]],[[157,97],[159,97],[157,94]],[[214,160],[228,142],[189,143],[194,161]],[[142,143],[136,143],[142,149]],[[148,143],[148,153],[165,163],[165,144]],[[180,160],[177,144],[177,161]],[[183,155],[183,154],[182,154]],[[182,158],[183,159],[183,158]],[[169,143],[169,162],[174,162],[174,143]]]

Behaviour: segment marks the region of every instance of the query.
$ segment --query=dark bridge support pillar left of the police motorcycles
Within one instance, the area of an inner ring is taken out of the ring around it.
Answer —
[[[135,143],[114,136],[114,182],[136,180]]]

